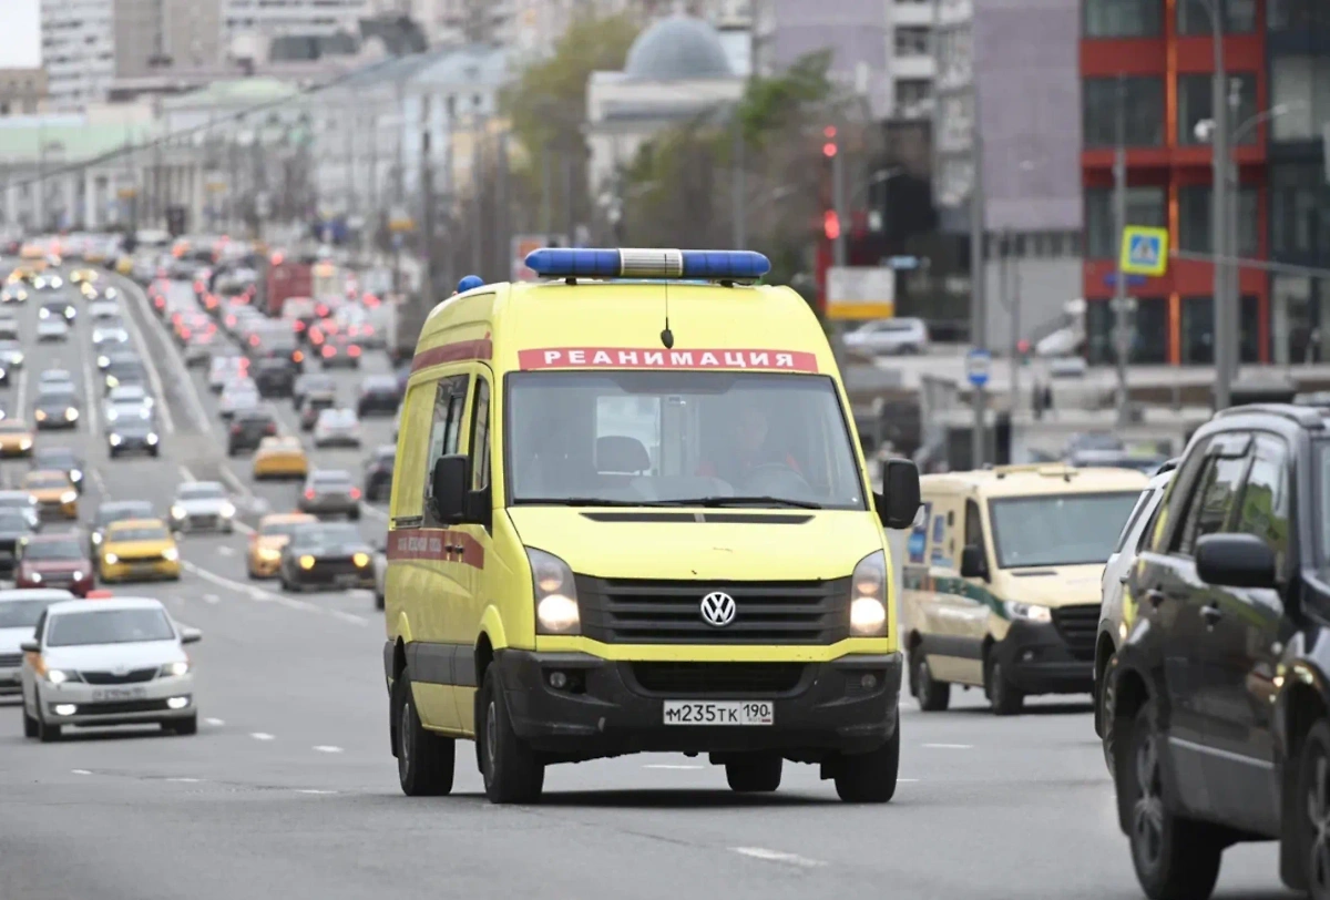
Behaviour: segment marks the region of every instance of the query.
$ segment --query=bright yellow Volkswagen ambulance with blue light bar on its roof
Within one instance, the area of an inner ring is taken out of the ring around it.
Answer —
[[[755,253],[537,250],[434,308],[411,366],[384,586],[392,751],[496,803],[545,767],[706,755],[735,791],[811,763],[896,784],[903,671],[883,525],[822,327]],[[464,279],[467,282],[479,279]]]

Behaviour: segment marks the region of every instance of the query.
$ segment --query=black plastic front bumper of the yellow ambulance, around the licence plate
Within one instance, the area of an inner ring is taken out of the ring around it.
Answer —
[[[636,674],[638,663],[584,653],[501,650],[495,665],[513,729],[544,754],[595,759],[625,752],[775,751],[809,762],[835,752],[866,752],[880,747],[896,722],[903,667],[899,653],[851,654],[830,662],[802,663],[803,671],[790,690],[697,694],[648,690]],[[552,671],[576,673],[571,683],[579,683],[581,693],[551,687]],[[767,701],[773,705],[774,723],[668,726],[664,723],[666,699]]]

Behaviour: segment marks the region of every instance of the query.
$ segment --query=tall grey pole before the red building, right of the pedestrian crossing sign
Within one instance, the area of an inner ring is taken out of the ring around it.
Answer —
[[[1229,334],[1228,266],[1221,262],[1228,255],[1228,229],[1224,219],[1228,214],[1228,170],[1229,170],[1229,122],[1228,122],[1228,77],[1224,72],[1224,4],[1222,0],[1205,0],[1210,13],[1210,36],[1213,39],[1214,74],[1210,80],[1210,108],[1214,130],[1210,136],[1210,245],[1214,254],[1214,408],[1226,409],[1233,401],[1233,368],[1229,363],[1233,336]]]

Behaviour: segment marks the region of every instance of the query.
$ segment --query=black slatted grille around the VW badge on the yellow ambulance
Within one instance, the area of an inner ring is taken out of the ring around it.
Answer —
[[[850,635],[850,580],[649,581],[577,576],[583,634],[608,643],[835,643]],[[702,619],[702,597],[734,598],[734,621]]]

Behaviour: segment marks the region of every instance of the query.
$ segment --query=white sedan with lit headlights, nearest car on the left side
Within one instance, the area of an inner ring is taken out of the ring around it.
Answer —
[[[20,645],[24,735],[45,743],[72,725],[152,723],[194,734],[194,674],[184,645],[198,639],[156,600],[52,604]]]

